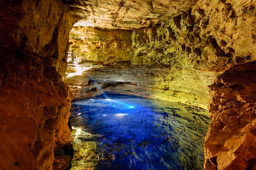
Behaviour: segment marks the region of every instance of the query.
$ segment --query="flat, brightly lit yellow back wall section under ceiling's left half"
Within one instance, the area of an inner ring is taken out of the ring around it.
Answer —
[[[92,27],[73,27],[70,31],[70,66],[86,60],[130,60],[131,34],[128,30],[103,31]]]

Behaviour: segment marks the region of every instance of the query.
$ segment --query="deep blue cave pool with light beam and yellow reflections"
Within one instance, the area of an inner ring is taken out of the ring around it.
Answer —
[[[207,110],[108,95],[73,101],[71,114],[72,170],[203,170]]]

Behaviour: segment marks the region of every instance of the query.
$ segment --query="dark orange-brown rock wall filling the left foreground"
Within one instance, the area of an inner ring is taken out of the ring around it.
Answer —
[[[0,167],[51,170],[72,141],[62,82],[72,18],[61,0],[0,1]]]

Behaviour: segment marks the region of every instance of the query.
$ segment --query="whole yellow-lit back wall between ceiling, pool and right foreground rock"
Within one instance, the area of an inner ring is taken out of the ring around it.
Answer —
[[[81,70],[80,75],[67,76],[65,82],[74,85],[75,98],[101,94],[101,89],[108,87],[113,92],[178,101],[206,109],[207,86],[232,65],[254,60],[256,54],[253,12],[250,11],[253,7],[249,1],[232,3],[236,9],[229,8],[229,2],[198,1],[192,9],[177,13],[161,25],[133,30],[132,42],[128,39],[129,31],[74,28],[70,36],[73,61],[67,73],[87,68]],[[232,11],[237,11],[236,15],[228,15]],[[245,31],[245,25],[252,27]],[[250,43],[245,45],[245,40]],[[122,67],[120,62],[115,62],[122,60],[130,64],[123,63]],[[152,67],[152,72],[143,73],[148,70],[147,66]],[[104,71],[112,67],[115,69]],[[127,67],[132,74],[127,74]],[[105,73],[108,75],[104,77]]]

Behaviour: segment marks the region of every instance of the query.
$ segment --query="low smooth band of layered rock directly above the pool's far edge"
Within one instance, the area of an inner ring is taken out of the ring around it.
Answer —
[[[65,83],[70,85],[75,98],[111,92],[198,105],[207,109],[207,85],[213,82],[215,76],[216,73],[210,71],[194,72],[120,62],[90,68],[81,75],[67,77]]]

